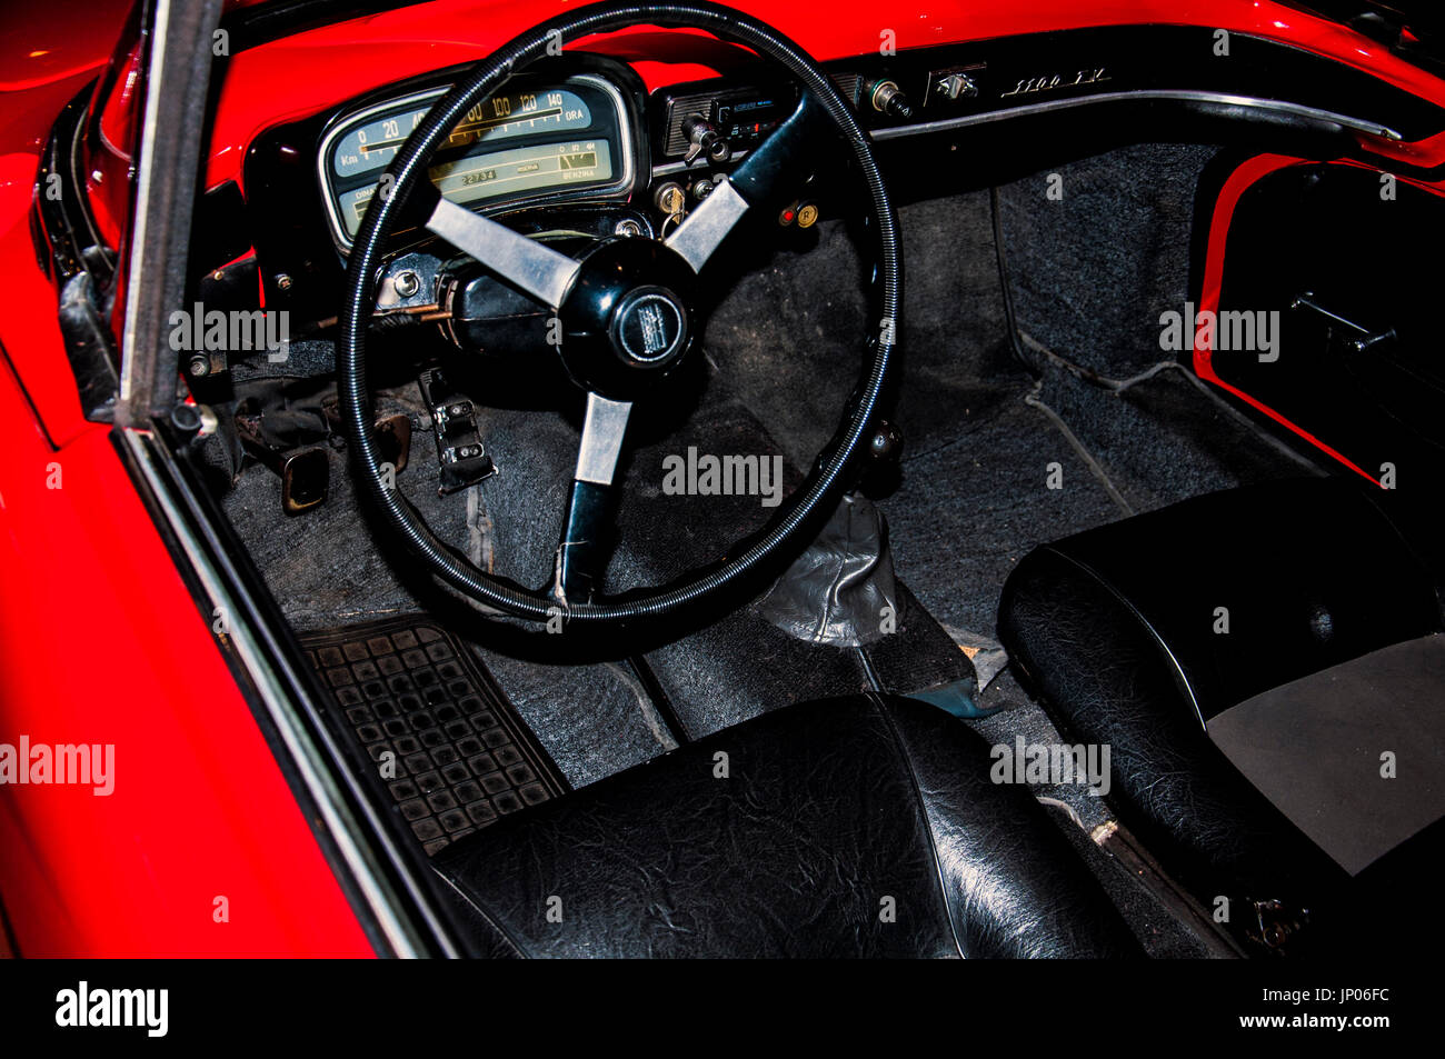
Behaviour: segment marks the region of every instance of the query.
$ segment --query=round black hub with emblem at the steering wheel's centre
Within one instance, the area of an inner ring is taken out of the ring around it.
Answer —
[[[558,353],[578,386],[636,400],[692,347],[692,267],[647,238],[614,238],[582,259],[562,302]]]

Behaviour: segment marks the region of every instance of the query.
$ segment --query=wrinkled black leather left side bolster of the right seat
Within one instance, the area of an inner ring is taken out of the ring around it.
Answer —
[[[1133,610],[1068,556],[1032,552],[1004,585],[998,639],[1064,738],[1110,747],[1110,802],[1192,889],[1274,893],[1332,874],[1209,743]],[[1283,894],[1279,894],[1283,896]]]

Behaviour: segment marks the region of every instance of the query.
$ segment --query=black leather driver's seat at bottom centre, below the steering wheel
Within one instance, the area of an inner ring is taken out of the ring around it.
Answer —
[[[510,956],[1113,956],[1118,913],[988,747],[912,699],[780,709],[444,850]]]

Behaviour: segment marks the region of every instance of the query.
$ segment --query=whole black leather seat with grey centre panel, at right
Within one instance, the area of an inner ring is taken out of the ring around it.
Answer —
[[[1218,493],[1039,548],[1004,587],[1014,669],[1066,738],[1110,745],[1120,818],[1208,906],[1259,928],[1279,902],[1270,942],[1433,886],[1390,868],[1442,834],[1445,637],[1435,562],[1389,500]],[[1381,774],[1387,751],[1410,776]]]

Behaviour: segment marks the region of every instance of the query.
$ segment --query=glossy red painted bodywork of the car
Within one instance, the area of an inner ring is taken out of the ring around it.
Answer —
[[[220,94],[207,183],[241,182],[244,152],[269,126],[481,58],[562,6],[436,0],[244,51]],[[884,29],[906,49],[1085,26],[1204,25],[1289,43],[1445,105],[1445,84],[1386,46],[1266,0],[903,0],[884,13],[861,0],[738,6],[818,59],[874,52]],[[289,751],[267,741],[237,688],[212,615],[198,610],[114,428],[81,415],[29,217],[51,123],[101,69],[126,12],[114,0],[65,7],[75,10],[12,9],[0,33],[9,296],[0,314],[0,741],[114,744],[116,777],[108,796],[88,786],[0,787],[0,903],[22,955],[367,955],[373,942],[318,842],[322,825],[302,812],[279,761]],[[649,88],[709,74],[685,58],[676,33],[643,27],[597,46],[633,61]],[[1445,140],[1397,144],[1396,156],[1436,165]],[[1227,196],[1238,196],[1240,181]],[[1211,308],[1211,282],[1218,292],[1228,208],[1220,204],[1211,233],[1201,308]],[[1196,368],[1212,377],[1207,351]]]

